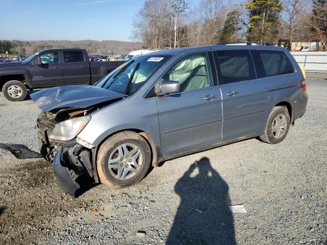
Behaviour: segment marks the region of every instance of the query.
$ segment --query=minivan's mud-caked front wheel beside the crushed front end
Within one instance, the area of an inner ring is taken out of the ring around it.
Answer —
[[[122,145],[126,145],[127,153]],[[141,154],[138,151],[135,153],[136,147]],[[121,150],[121,153],[118,149]],[[128,153],[131,153],[132,156]],[[137,154],[139,155],[136,156]],[[136,164],[137,161],[140,165]],[[100,181],[110,188],[123,188],[138,183],[147,174],[150,163],[149,144],[141,135],[133,131],[123,131],[108,138],[100,146],[97,157]],[[113,166],[119,166],[119,168]],[[132,168],[134,169],[130,170]]]

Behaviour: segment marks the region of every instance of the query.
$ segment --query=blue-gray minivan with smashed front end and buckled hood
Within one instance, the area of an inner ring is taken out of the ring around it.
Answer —
[[[57,183],[108,187],[142,180],[150,165],[260,137],[276,144],[306,111],[303,74],[282,47],[213,45],[138,56],[94,86],[31,95],[38,138]]]

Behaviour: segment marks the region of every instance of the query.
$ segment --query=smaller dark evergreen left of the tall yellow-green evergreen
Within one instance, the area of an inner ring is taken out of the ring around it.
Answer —
[[[239,10],[234,9],[227,13],[227,17],[224,23],[224,28],[220,37],[221,42],[238,41],[237,34],[240,31],[240,16]]]

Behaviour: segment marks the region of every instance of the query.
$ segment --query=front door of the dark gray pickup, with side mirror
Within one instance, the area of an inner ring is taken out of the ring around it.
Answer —
[[[41,64],[31,69],[33,87],[54,87],[62,85],[62,63],[58,51],[40,54]]]

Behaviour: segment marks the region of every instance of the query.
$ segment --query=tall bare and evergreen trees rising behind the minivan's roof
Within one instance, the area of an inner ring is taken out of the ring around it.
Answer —
[[[327,0],[146,0],[132,37],[151,48],[279,39],[327,42]]]

